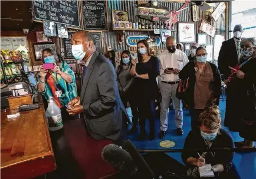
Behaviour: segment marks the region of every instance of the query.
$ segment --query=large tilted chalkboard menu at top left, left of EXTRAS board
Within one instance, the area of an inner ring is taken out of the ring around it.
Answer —
[[[64,23],[68,26],[80,28],[78,1],[32,1],[32,12],[35,20],[48,20]]]

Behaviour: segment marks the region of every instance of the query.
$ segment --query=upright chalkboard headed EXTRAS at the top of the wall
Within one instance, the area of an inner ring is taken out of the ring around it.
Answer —
[[[83,24],[88,30],[107,30],[106,1],[83,1]]]

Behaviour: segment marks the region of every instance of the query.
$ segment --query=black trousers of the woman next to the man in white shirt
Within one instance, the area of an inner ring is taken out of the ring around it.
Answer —
[[[139,110],[140,133],[145,134],[146,119],[149,119],[150,134],[155,134],[155,104],[151,99],[137,100]]]

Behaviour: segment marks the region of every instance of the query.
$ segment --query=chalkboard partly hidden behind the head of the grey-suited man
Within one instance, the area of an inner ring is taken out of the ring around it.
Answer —
[[[63,39],[63,48],[64,48],[64,58],[65,59],[73,59],[74,56],[72,54],[71,50],[71,38],[73,33],[68,33],[68,39]],[[93,35],[96,50],[99,53],[102,53],[102,35],[101,32],[91,32],[91,35]]]

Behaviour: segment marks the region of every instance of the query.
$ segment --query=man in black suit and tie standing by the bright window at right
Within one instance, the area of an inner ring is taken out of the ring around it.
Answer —
[[[229,75],[231,75],[231,69],[228,66],[234,67],[238,63],[239,43],[241,42],[242,32],[242,26],[235,25],[233,30],[234,37],[222,42],[218,58],[218,68],[223,74],[222,80],[228,79]]]

